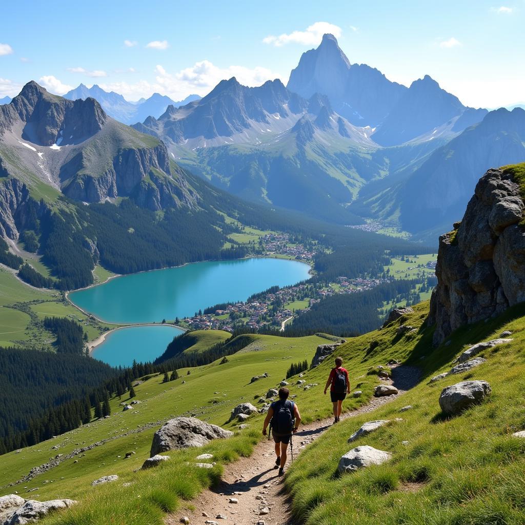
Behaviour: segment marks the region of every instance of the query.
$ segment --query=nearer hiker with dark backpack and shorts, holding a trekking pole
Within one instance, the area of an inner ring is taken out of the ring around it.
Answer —
[[[275,454],[277,456],[275,465],[276,468],[279,467],[279,476],[282,476],[285,471],[286,449],[289,443],[291,447],[292,433],[295,434],[297,432],[299,423],[301,422],[299,409],[293,401],[288,400],[289,395],[290,391],[288,388],[279,388],[279,400],[274,401],[274,403],[270,405],[268,414],[266,414],[266,419],[264,420],[264,426],[262,427],[262,434],[266,436],[266,429],[271,422],[271,436],[274,438]]]

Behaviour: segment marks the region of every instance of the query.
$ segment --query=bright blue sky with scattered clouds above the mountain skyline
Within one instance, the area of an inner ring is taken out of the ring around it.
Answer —
[[[231,76],[251,86],[286,83],[330,30],[350,62],[391,80],[409,85],[429,74],[476,107],[525,101],[525,0],[81,5],[4,4],[0,97],[31,79],[59,95],[98,83],[128,100],[205,95]]]

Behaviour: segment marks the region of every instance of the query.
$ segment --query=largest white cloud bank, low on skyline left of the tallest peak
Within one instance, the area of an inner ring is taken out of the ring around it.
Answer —
[[[188,95],[207,95],[221,80],[236,77],[245,86],[260,86],[267,80],[282,77],[276,72],[262,67],[246,68],[243,66],[229,66],[219,68],[203,60],[193,66],[170,73],[158,64],[155,66],[155,80],[149,82],[112,82],[101,83],[100,87],[106,91],[121,93],[127,100],[148,98],[158,92],[171,97],[173,100],[182,100]]]

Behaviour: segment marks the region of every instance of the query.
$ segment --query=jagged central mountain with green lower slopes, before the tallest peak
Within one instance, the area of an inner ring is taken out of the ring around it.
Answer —
[[[344,204],[380,172],[362,159],[376,148],[370,130],[335,113],[326,96],[304,99],[280,80],[255,88],[223,80],[203,99],[133,127],[236,195],[347,224],[359,219]]]

